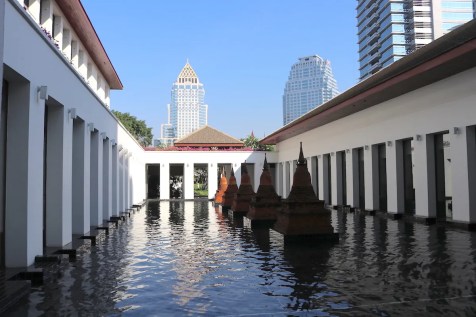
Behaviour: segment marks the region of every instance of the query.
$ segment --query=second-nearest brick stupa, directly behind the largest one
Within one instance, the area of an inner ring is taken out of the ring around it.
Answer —
[[[250,202],[250,208],[246,214],[247,221],[252,228],[272,226],[280,207],[281,197],[274,189],[265,154],[260,184],[255,197]]]

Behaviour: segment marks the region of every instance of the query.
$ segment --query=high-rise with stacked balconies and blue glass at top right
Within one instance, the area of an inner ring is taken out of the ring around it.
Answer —
[[[357,0],[360,79],[475,18],[475,0]]]

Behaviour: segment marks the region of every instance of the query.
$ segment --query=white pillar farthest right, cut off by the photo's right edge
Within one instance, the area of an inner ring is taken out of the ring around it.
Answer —
[[[452,132],[453,220],[476,223],[476,129],[471,126]]]

